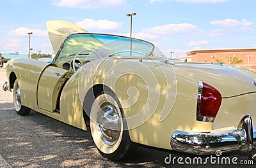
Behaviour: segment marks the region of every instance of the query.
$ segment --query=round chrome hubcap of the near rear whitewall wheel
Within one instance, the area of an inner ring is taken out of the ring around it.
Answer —
[[[122,129],[121,121],[115,106],[108,102],[100,105],[97,113],[97,132],[104,144],[113,146],[118,141]]]

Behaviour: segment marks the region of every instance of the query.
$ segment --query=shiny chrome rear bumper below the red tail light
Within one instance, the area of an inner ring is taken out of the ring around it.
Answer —
[[[244,115],[234,130],[210,133],[175,131],[171,137],[173,150],[196,155],[213,154],[216,150],[253,152],[255,145],[256,127],[253,127],[250,115]],[[256,154],[252,152],[251,155],[255,159]]]

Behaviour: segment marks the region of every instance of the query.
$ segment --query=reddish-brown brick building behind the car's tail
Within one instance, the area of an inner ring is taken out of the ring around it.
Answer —
[[[193,50],[186,54],[191,58],[191,61],[216,63],[217,60],[221,60],[221,62],[227,65],[231,65],[230,60],[237,57],[243,60],[243,62],[237,65],[256,69],[256,48]]]

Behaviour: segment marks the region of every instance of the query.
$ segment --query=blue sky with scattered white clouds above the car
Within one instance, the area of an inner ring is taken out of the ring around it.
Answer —
[[[4,0],[0,53],[52,53],[47,20],[65,20],[89,32],[132,36],[156,44],[167,56],[214,48],[256,48],[252,0]]]

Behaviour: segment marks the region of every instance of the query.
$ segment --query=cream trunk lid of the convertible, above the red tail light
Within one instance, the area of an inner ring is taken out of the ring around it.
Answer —
[[[173,69],[176,74],[212,85],[220,91],[223,98],[256,92],[256,87],[253,85],[256,74],[249,74],[232,67],[213,64],[175,63]]]

